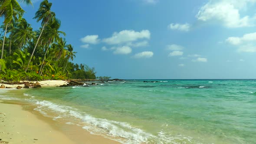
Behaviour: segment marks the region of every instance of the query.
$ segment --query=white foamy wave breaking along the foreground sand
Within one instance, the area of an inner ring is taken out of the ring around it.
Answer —
[[[102,134],[112,140],[121,142],[123,144],[138,144],[138,143],[175,143],[175,141],[191,141],[192,138],[184,137],[182,135],[168,135],[164,132],[159,132],[158,135],[153,135],[143,131],[140,128],[133,127],[127,122],[112,121],[103,118],[95,118],[85,112],[79,112],[77,109],[57,105],[50,101],[36,101],[38,105],[36,111],[40,111],[43,115],[47,115],[46,111],[52,110],[58,112],[59,116],[53,117],[53,120],[63,117],[74,117],[84,122],[81,126],[83,129],[89,131],[91,134]],[[75,124],[74,122],[66,122],[66,124]]]

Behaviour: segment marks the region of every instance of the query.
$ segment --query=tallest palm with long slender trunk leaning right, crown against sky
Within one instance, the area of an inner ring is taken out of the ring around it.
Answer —
[[[32,52],[31,57],[30,57],[30,61],[28,63],[27,68],[25,69],[25,72],[29,68],[31,59],[32,59],[32,57],[34,55],[34,52],[36,50],[36,46],[37,46],[37,44],[39,42],[39,39],[40,39],[40,37],[41,37],[41,35],[43,33],[43,29],[45,28],[46,25],[54,22],[55,13],[51,11],[51,7],[52,7],[52,3],[49,3],[48,0],[44,0],[40,4],[39,10],[36,12],[36,16],[34,17],[34,19],[37,19],[36,20],[37,22],[42,20],[41,25],[43,26],[43,28],[42,28],[41,33],[40,33],[40,35],[39,35],[39,37],[38,37],[38,39],[36,41],[36,45],[35,45],[35,47],[33,49],[33,52]]]

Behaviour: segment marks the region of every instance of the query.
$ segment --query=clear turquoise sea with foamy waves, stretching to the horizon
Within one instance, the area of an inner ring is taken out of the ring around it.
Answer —
[[[1,97],[122,143],[256,143],[256,80],[125,80],[19,92]]]

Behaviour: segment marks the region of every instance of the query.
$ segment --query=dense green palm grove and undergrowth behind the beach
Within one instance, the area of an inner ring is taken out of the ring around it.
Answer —
[[[61,21],[51,10],[52,3],[41,2],[34,16],[41,23],[37,30],[23,18],[20,3],[32,5],[31,0],[0,1],[0,79],[96,79],[94,68],[72,63],[76,52],[59,30]]]

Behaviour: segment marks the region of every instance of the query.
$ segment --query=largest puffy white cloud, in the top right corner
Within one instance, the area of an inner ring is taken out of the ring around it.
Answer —
[[[200,8],[197,19],[207,22],[221,22],[228,28],[252,26],[249,16],[240,16],[240,10],[256,0],[210,0]]]

